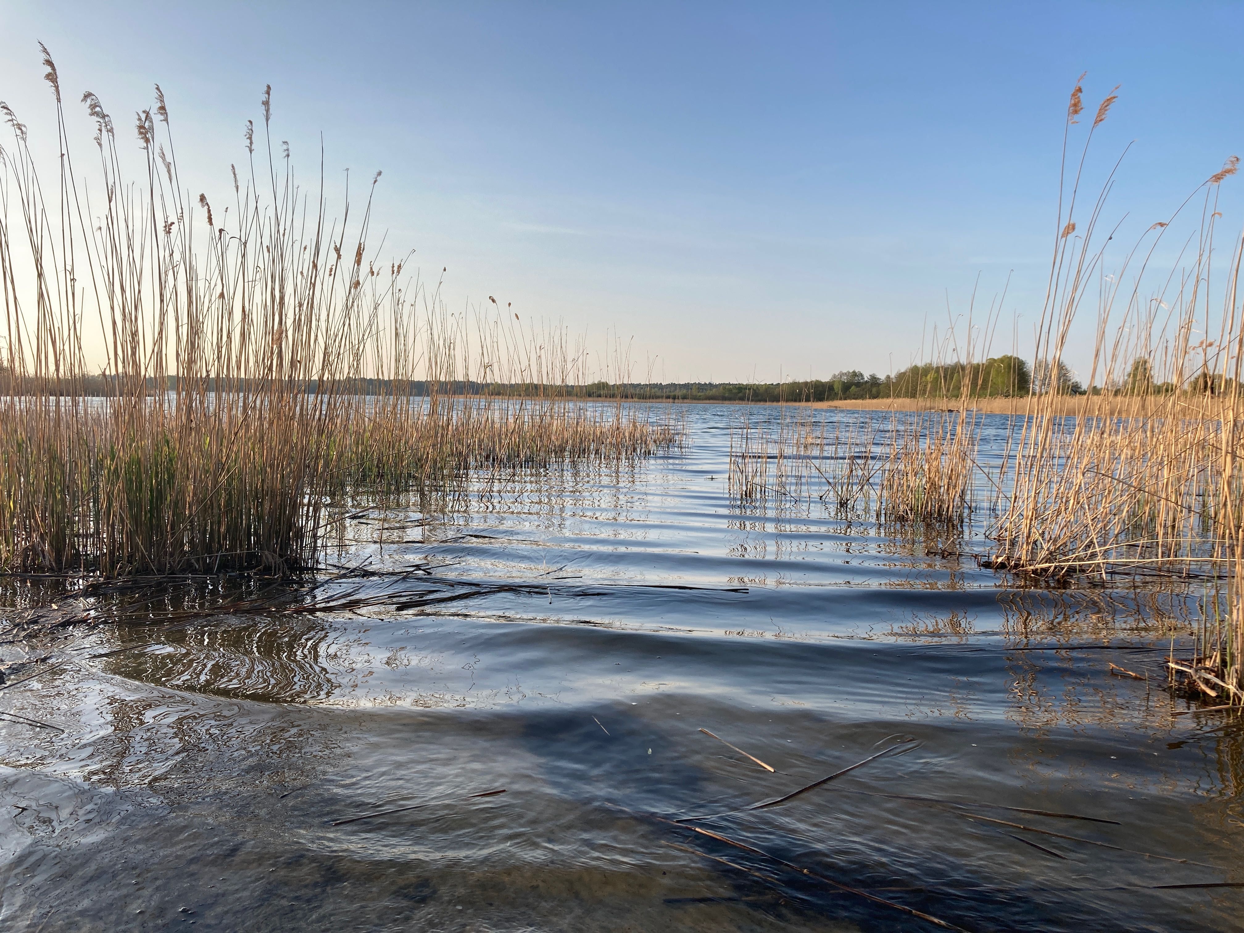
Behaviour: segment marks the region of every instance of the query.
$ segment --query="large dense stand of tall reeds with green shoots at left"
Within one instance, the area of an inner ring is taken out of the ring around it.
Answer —
[[[591,374],[564,330],[491,299],[449,315],[409,256],[382,261],[379,173],[332,219],[322,167],[304,187],[271,138],[271,88],[231,190],[209,199],[179,173],[158,86],[137,144],[82,96],[80,169],[46,49],[44,65],[51,172],[0,104],[0,569],[296,573],[352,495],[677,439],[569,399]]]

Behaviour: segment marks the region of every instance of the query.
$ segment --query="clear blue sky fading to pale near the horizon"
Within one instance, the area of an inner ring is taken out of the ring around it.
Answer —
[[[986,305],[1011,275],[1023,351],[1082,71],[1090,108],[1122,85],[1091,172],[1135,141],[1108,216],[1143,229],[1244,154],[1242,4],[107,7],[0,4],[0,100],[32,133],[42,40],[71,113],[91,90],[128,127],[159,82],[183,175],[224,190],[271,83],[305,177],[321,133],[330,175],[383,169],[377,223],[448,266],[450,305],[633,337],[669,381],[904,366],[978,275]]]

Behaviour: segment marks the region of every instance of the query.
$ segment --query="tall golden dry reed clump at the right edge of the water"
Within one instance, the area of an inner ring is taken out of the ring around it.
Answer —
[[[1113,231],[1103,236],[1098,224],[1112,175],[1087,218],[1076,211],[1085,154],[1113,100],[1097,108],[1075,162],[1064,143],[1067,180],[1036,330],[1037,358],[1056,372],[1076,318],[1096,305],[1087,383],[1101,389],[1077,399],[1071,415],[1056,409],[1052,386],[1029,399],[1008,509],[994,532],[998,565],[1060,578],[1203,581],[1205,612],[1193,657],[1182,666],[1172,657],[1172,673],[1192,689],[1244,699],[1244,438],[1238,428],[1244,238],[1235,239],[1223,267],[1212,261],[1222,184],[1239,160],[1229,158],[1171,216],[1149,226],[1106,275]],[[1082,109],[1077,85],[1069,131]],[[1198,211],[1199,220],[1177,265],[1154,275],[1154,256],[1186,210]]]

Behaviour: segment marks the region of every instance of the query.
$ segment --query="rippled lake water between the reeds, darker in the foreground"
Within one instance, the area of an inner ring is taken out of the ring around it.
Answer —
[[[0,722],[0,927],[1242,926],[1240,729],[1162,689],[1194,606],[1018,588],[986,514],[741,510],[741,411],[688,411],[639,465],[351,525],[342,566],[430,573],[4,646],[0,712],[63,731]]]

